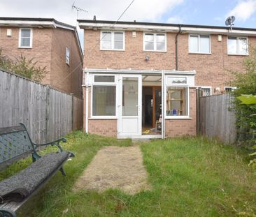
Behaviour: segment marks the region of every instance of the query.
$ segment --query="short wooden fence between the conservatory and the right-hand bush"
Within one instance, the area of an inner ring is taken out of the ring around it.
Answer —
[[[199,98],[199,132],[217,137],[225,143],[236,140],[236,118],[230,110],[232,96],[229,94]]]

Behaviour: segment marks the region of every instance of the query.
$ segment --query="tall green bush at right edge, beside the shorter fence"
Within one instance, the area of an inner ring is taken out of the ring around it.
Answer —
[[[250,56],[243,62],[245,72],[232,72],[234,80],[230,86],[237,87],[232,91],[234,98],[234,110],[236,114],[236,127],[238,130],[238,142],[242,144],[255,144],[256,137],[256,113],[255,105],[244,105],[236,98],[242,94],[256,95],[256,49],[250,49]]]

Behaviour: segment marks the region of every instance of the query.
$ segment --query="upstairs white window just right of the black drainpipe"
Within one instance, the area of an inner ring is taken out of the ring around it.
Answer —
[[[210,54],[210,36],[190,35],[190,53]]]

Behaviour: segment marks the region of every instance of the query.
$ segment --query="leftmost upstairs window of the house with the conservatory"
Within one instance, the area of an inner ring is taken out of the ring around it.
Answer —
[[[125,33],[101,31],[101,50],[125,50]]]

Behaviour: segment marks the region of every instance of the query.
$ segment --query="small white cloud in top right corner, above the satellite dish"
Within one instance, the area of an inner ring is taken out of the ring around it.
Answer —
[[[246,21],[256,10],[256,0],[239,1],[237,5],[229,11],[227,16],[234,15],[236,20]]]

